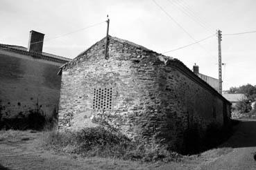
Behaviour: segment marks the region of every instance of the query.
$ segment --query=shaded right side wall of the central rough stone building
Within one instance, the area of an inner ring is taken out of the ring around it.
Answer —
[[[166,140],[172,149],[182,148],[184,133],[196,128],[204,135],[208,126],[223,126],[223,100],[205,86],[198,84],[176,64],[159,68],[161,104],[163,113],[158,123],[157,138]]]

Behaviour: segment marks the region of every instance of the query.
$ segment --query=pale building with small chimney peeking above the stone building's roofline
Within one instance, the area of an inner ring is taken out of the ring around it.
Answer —
[[[219,91],[219,79],[215,79],[214,77],[210,77],[208,75],[203,75],[202,73],[199,73],[199,66],[193,66],[193,72],[198,75],[203,81],[207,82],[212,88],[214,88],[216,91]]]

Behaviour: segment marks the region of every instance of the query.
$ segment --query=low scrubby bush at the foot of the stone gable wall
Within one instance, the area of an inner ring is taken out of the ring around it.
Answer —
[[[45,149],[76,153],[85,157],[121,158],[123,160],[169,161],[180,155],[167,151],[157,144],[139,144],[120,133],[112,133],[101,126],[86,128],[78,132],[51,131],[44,136]]]

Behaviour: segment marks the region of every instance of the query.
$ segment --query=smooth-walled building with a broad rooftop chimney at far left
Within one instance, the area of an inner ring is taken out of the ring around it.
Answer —
[[[28,48],[0,44],[0,120],[26,117],[33,111],[58,111],[59,67],[71,59],[42,52],[44,34],[31,30]]]

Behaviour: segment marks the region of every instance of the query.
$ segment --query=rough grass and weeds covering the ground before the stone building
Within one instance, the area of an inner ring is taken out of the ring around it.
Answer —
[[[91,133],[95,133],[97,131],[99,132],[101,129],[90,130],[91,131],[86,131],[86,133],[56,133],[55,131],[37,132],[14,130],[0,131],[0,146],[4,145],[4,147],[0,150],[2,150],[2,155],[17,155],[11,160],[7,159],[6,164],[13,164],[13,162],[18,160],[18,162],[23,162],[24,169],[26,169],[25,167],[27,166],[27,159],[31,158],[31,166],[41,166],[44,167],[43,169],[49,169],[49,167],[53,169],[53,164],[55,164],[54,169],[67,169],[67,167],[68,169],[84,169],[86,167],[88,169],[126,170],[194,169],[200,164],[204,164],[204,162],[216,160],[216,158],[220,158],[221,155],[225,155],[226,153],[232,151],[231,148],[219,148],[211,149],[210,151],[206,151],[200,155],[181,157],[178,154],[176,155],[176,153],[171,153],[164,149],[159,149],[157,146],[154,146],[154,144],[151,146],[143,146],[142,144],[139,145],[133,142],[130,143],[130,141],[126,141],[125,138],[123,139],[125,141],[123,141],[122,144],[117,144],[117,138],[120,140],[121,137],[117,137],[116,135],[110,136],[111,138],[108,137],[107,141],[109,144],[105,145],[104,140],[99,139],[103,138],[104,135],[108,135],[108,132],[103,131],[101,134],[92,135]],[[87,138],[88,135],[90,135],[91,138]],[[90,141],[88,139],[95,140],[95,138],[98,138],[98,141],[100,142],[88,143]],[[87,143],[80,143],[86,139]],[[131,144],[130,149],[126,148],[126,151],[121,151],[123,155],[120,155],[118,151],[119,149],[123,149],[123,145],[126,142]],[[112,143],[117,145],[115,146],[116,150],[113,150],[113,147],[111,147]],[[42,148],[42,144],[44,148]],[[17,146],[17,149],[14,149],[14,146]],[[92,147],[92,149],[87,150],[87,153],[83,154],[85,150],[89,148],[88,146]],[[20,149],[21,147],[23,149]],[[96,149],[96,147],[101,149]],[[6,150],[3,151],[3,149]],[[62,154],[56,154],[56,152],[47,151],[49,149]],[[24,155],[25,153],[26,155]],[[22,157],[19,155],[24,156]],[[46,163],[41,164],[42,160],[44,160]],[[20,163],[19,166],[22,166],[21,164],[22,163]]]

